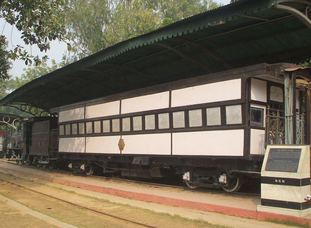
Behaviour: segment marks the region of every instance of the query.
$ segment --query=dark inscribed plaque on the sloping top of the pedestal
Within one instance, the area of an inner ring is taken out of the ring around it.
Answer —
[[[301,149],[271,148],[266,171],[297,173]]]

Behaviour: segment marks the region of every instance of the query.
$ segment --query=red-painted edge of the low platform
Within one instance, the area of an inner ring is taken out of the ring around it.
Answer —
[[[149,202],[156,202],[165,205],[171,205],[176,207],[184,207],[188,209],[197,209],[202,211],[209,211],[209,212],[218,212],[226,215],[234,215],[244,218],[252,218],[252,219],[272,219],[272,220],[279,220],[279,221],[293,221],[297,222],[301,225],[308,224],[311,226],[311,219],[306,218],[299,218],[295,216],[287,216],[281,214],[275,214],[270,212],[257,212],[253,210],[247,210],[243,208],[236,208],[230,206],[220,206],[215,204],[209,203],[202,203],[202,202],[193,202],[188,200],[182,199],[175,199],[175,198],[168,198],[163,196],[156,196],[151,194],[145,193],[135,193],[135,192],[128,192],[124,190],[114,189],[114,188],[106,188],[102,186],[96,186],[91,184],[84,184],[76,181],[56,178],[56,177],[49,177],[41,174],[34,174],[27,171],[20,171],[20,170],[13,170],[6,167],[0,167],[0,170],[11,171],[17,174],[24,174],[30,176],[32,178],[37,178],[41,180],[51,181],[58,184],[64,184],[72,187],[82,188],[85,190],[91,190],[100,193],[106,193],[115,196],[121,196],[124,198],[132,198],[137,200],[149,201]]]

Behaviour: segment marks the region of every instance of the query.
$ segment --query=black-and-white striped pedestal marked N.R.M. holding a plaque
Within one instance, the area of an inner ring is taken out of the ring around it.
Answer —
[[[310,195],[310,146],[267,146],[257,211],[304,217],[311,214],[306,195]]]

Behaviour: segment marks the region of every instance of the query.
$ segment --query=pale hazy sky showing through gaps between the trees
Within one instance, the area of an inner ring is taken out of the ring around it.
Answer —
[[[224,5],[227,5],[230,3],[230,0],[216,0],[216,2],[222,3]],[[3,33],[2,33],[3,30]],[[26,50],[30,53],[30,48],[27,47],[26,44],[23,43],[23,40],[20,39],[21,33],[16,29],[16,27],[12,27],[10,24],[5,23],[4,20],[0,20],[0,33],[5,35],[7,37],[7,40],[9,41],[8,47],[9,49],[14,49],[14,46],[17,44],[23,46],[26,48]],[[13,46],[13,48],[12,48]],[[40,52],[38,48],[35,46],[32,46],[31,52],[33,56],[39,55],[39,57],[42,57],[44,55],[48,55],[48,65],[51,65],[51,60],[55,59],[57,63],[61,62],[63,53],[67,49],[67,44],[65,42],[59,43],[56,40],[53,40],[50,43],[51,49],[48,50],[46,53]],[[22,73],[24,72],[24,68],[27,66],[25,65],[25,62],[22,60],[15,60],[13,62],[13,67],[10,69],[9,74],[11,74],[13,77],[21,77]]]

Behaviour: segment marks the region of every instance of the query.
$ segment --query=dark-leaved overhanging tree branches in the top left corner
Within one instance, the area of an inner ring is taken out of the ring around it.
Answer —
[[[0,0],[0,18],[21,31],[21,39],[26,45],[36,45],[41,52],[46,52],[50,49],[49,41],[67,40],[64,23],[66,8],[64,0]],[[48,59],[46,55],[41,58],[32,56],[20,45],[7,51],[6,40],[5,36],[0,36],[0,80],[8,79],[7,59],[19,58],[26,65],[34,62],[36,66]]]

